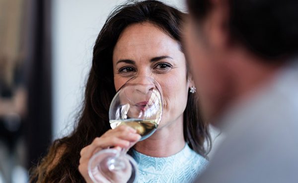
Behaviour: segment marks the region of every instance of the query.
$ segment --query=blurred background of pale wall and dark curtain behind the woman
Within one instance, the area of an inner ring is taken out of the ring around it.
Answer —
[[[0,0],[0,183],[27,183],[73,129],[95,39],[123,1]]]

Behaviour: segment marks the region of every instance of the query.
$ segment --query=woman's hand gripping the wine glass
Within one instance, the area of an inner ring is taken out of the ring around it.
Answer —
[[[88,175],[88,162],[96,152],[109,147],[115,147],[118,150],[120,150],[120,148],[129,149],[138,142],[140,138],[141,135],[139,135],[135,129],[126,125],[120,125],[115,129],[108,130],[102,136],[95,138],[90,145],[81,149],[81,157],[78,166],[80,174],[87,183],[93,183]],[[110,181],[102,176],[102,183],[110,183]]]

